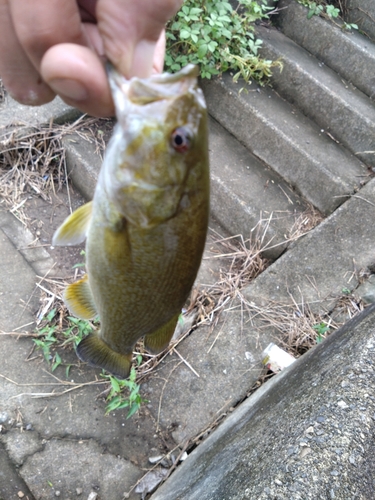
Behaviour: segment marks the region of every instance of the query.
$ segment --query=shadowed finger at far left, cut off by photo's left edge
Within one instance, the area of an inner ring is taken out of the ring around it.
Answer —
[[[51,101],[55,94],[42,81],[21,47],[6,0],[0,0],[0,33],[0,76],[9,94],[28,105]]]

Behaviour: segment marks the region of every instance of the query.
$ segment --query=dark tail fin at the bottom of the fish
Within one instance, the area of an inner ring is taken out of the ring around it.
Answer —
[[[78,344],[77,355],[81,361],[85,361],[91,366],[103,368],[117,378],[129,377],[132,352],[120,354],[93,333],[90,333]]]

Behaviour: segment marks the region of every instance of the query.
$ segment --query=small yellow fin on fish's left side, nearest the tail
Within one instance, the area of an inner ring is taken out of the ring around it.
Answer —
[[[81,280],[66,287],[63,299],[74,316],[81,319],[93,319],[97,316],[87,274]]]

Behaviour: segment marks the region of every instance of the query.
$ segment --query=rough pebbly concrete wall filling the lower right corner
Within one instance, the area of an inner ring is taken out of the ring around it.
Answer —
[[[152,500],[374,496],[375,306],[267,382]]]

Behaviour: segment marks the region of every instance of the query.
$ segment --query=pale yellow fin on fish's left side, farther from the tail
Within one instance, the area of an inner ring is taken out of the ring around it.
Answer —
[[[52,245],[69,246],[83,243],[91,220],[91,212],[90,201],[69,215],[53,235]]]

